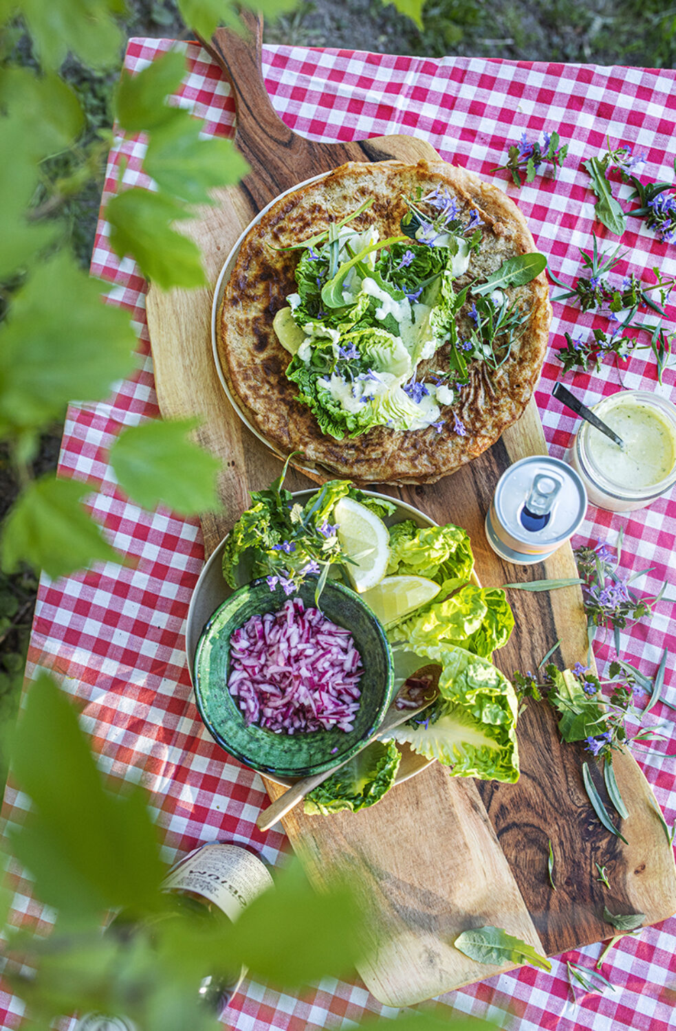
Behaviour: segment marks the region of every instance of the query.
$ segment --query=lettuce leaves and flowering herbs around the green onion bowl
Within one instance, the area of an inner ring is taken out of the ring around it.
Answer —
[[[288,466],[288,462],[287,462]],[[351,557],[341,546],[334,508],[352,498],[392,522],[396,506],[330,480],[300,504],[284,489],[282,475],[235,523],[223,551],[230,587],[266,577],[292,595],[309,576],[318,577],[317,597],[327,576],[345,578]],[[409,611],[387,631],[394,656],[395,687],[439,680],[431,705],[395,728],[388,740],[372,742],[308,795],[308,813],[366,808],[392,787],[399,762],[397,743],[449,767],[452,776],[518,779],[517,700],[507,677],[492,664],[507,643],[514,617],[505,593],[471,583],[474,557],[459,527],[417,527],[413,520],[389,526],[387,576],[416,575],[440,585],[434,598]],[[347,581],[347,580],[346,580]]]

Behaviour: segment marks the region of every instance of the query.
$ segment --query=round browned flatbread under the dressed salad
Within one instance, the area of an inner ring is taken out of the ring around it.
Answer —
[[[516,422],[533,395],[547,350],[551,305],[544,273],[519,288],[529,309],[527,329],[510,358],[491,372],[482,362],[470,366],[470,383],[453,405],[466,436],[454,430],[450,408],[441,433],[436,429],[394,431],[376,427],[358,437],[336,440],[321,432],[298,389],[285,376],[291,356],[272,329],[276,312],[296,290],[298,251],[279,251],[326,229],[375,201],[352,223],[362,232],[371,225],[381,239],[400,232],[407,211],[405,197],[421,187],[424,193],[445,186],[455,196],[463,217],[476,209],[485,223],[483,242],[470,270],[455,282],[485,279],[508,258],[536,250],[523,215],[502,190],[479,176],[444,162],[405,165],[398,161],[349,163],[326,177],[283,197],[245,237],[225,286],[220,312],[218,353],[235,405],[251,425],[281,454],[300,452],[301,465],[317,469],[321,478],[340,476],[366,484],[429,484],[455,471],[494,443]],[[417,377],[447,367],[441,347],[419,366]],[[449,418],[450,415],[450,418]]]

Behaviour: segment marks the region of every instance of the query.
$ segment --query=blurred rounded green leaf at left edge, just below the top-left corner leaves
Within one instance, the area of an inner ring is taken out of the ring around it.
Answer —
[[[38,76],[28,68],[4,67],[0,69],[0,96],[6,110],[21,120],[27,142],[38,158],[68,146],[85,126],[77,96],[58,75]],[[0,121],[0,129],[5,125]]]

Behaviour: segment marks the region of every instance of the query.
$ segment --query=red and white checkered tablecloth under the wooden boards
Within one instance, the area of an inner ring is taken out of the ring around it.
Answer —
[[[208,55],[192,43],[133,39],[125,65],[139,70],[158,55],[176,46],[187,56],[189,71],[181,104],[205,120],[206,131],[232,133],[234,104],[228,86]],[[641,174],[651,179],[673,176],[676,130],[676,72],[591,65],[530,64],[446,58],[391,57],[345,51],[288,46],[263,47],[263,73],[272,103],[286,124],[316,140],[352,140],[388,133],[409,133],[427,139],[448,161],[479,172],[506,189],[523,211],[536,244],[550,259],[552,270],[571,281],[579,271],[578,247],[588,248],[591,231],[616,238],[593,223],[593,196],[581,161],[613,143],[645,152]],[[569,158],[554,181],[548,173],[516,190],[506,172],[491,172],[504,163],[507,148],[523,132],[529,138],[556,130],[569,144]],[[104,200],[118,189],[123,156],[126,185],[143,181],[139,172],[143,145],[137,139],[116,139],[107,167]],[[622,188],[623,196],[629,195]],[[622,239],[626,257],[619,274],[648,272],[659,265],[676,272],[676,248],[661,243],[632,219]],[[106,448],[124,426],[158,417],[153,364],[144,313],[146,282],[134,263],[118,260],[108,244],[108,227],[101,221],[92,259],[95,275],[112,284],[110,303],[131,312],[140,340],[138,371],[120,385],[106,402],[73,406],[63,438],[63,476],[92,484],[91,506],[111,543],[138,560],[137,568],[99,567],[94,573],[50,581],[42,577],[29,654],[29,674],[38,664],[55,669],[82,708],[83,724],[92,735],[100,766],[120,777],[139,775],[151,795],[155,819],[164,833],[164,856],[176,855],[215,839],[255,842],[272,864],[287,846],[279,831],[258,832],[255,821],[266,801],[263,786],[251,770],[229,759],[211,740],[191,699],[184,654],[184,632],[191,592],[203,552],[196,521],[166,510],[147,512],[116,489],[106,463]],[[553,291],[554,295],[557,293]],[[674,315],[674,309],[670,310]],[[574,429],[574,419],[551,397],[560,365],[555,348],[564,332],[592,325],[590,315],[574,306],[554,305],[551,350],[544,366],[537,400],[550,453],[560,457]],[[598,325],[606,325],[601,320]],[[654,361],[643,352],[633,357],[623,374],[627,388],[654,390],[676,400],[674,372],[657,384]],[[618,388],[614,366],[601,374],[578,374],[574,387],[587,404]],[[570,381],[570,376],[567,377]],[[655,594],[669,580],[676,596],[673,569],[676,496],[648,509],[617,516],[590,507],[574,543],[608,539],[614,543],[624,530],[622,571],[646,567],[637,589]],[[652,675],[665,645],[676,651],[672,619],[676,609],[661,604],[649,625],[622,633],[622,657]],[[600,643],[603,669],[612,658],[610,642]],[[676,701],[676,672],[666,674],[667,697]],[[672,712],[658,704],[655,716],[671,726]],[[676,753],[676,732],[662,742]],[[674,760],[638,754],[667,822],[676,819]],[[26,799],[7,789],[3,816],[9,826],[21,817]],[[17,876],[17,919],[44,919],[32,901],[30,885]],[[562,958],[590,964],[600,945]],[[666,1031],[676,1026],[676,920],[623,938],[606,965],[614,992],[576,991],[573,1004],[566,965],[553,962],[551,973],[532,967],[497,975],[482,984],[449,993],[438,1001],[442,1013],[474,1013],[510,1022],[520,1031],[573,1028],[608,1031],[641,1028]],[[0,994],[3,1027],[19,1025],[22,1003]],[[255,982],[227,1010],[226,1023],[236,1031],[264,1028],[336,1028],[364,1013],[395,1010],[380,1005],[362,985],[324,979],[295,998]],[[509,1015],[512,1015],[511,1017]]]

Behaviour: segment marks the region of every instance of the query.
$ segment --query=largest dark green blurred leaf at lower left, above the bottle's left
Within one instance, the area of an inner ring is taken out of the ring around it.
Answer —
[[[44,672],[28,689],[11,765],[33,801],[13,851],[41,901],[72,923],[108,907],[157,907],[165,871],[146,793],[104,790],[74,708]]]

